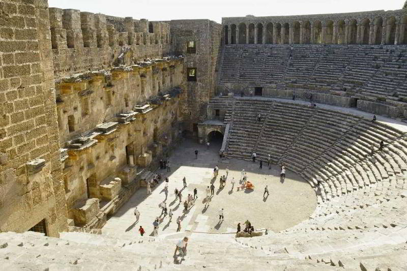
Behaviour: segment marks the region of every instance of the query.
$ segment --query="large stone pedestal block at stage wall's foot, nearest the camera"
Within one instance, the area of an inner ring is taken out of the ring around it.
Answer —
[[[75,225],[86,225],[99,214],[99,199],[82,199],[75,204],[72,211]]]

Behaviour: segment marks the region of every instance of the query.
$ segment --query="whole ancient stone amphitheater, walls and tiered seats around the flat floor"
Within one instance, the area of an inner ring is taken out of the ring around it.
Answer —
[[[407,270],[407,9],[218,24],[0,0],[0,101],[2,270]],[[104,232],[214,132],[223,161],[303,177],[313,214],[252,238]]]

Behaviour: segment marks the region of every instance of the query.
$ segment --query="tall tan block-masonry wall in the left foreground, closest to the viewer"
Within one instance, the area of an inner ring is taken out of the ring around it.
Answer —
[[[45,220],[59,236],[68,227],[47,2],[0,7],[0,231]]]

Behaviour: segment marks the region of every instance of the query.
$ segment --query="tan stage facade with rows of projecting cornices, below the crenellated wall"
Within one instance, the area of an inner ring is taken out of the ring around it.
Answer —
[[[126,197],[123,193],[131,190],[128,186],[139,187],[133,184],[137,166],[148,166],[180,136],[184,59],[168,57],[138,64],[57,81],[61,147],[67,148],[68,217],[75,226],[103,225],[105,214],[88,208],[84,200],[98,198],[101,212],[106,205],[114,212]],[[122,113],[131,117],[123,121]],[[102,133],[100,127],[106,123],[115,126]],[[83,218],[92,220],[84,222]]]

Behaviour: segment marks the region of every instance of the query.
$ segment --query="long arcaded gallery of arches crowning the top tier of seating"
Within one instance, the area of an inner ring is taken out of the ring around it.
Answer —
[[[222,18],[223,44],[407,44],[407,11]]]

